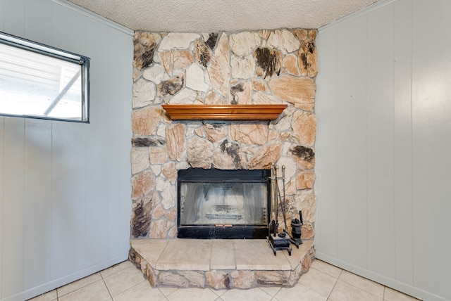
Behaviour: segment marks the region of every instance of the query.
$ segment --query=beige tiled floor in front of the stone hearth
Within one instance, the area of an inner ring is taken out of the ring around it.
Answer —
[[[333,265],[315,260],[292,288],[252,288],[249,290],[211,290],[209,288],[152,288],[141,271],[122,262],[99,273],[69,283],[33,301],[412,301],[404,295]]]

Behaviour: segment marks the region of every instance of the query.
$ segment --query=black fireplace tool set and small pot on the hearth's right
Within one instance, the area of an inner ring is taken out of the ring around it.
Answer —
[[[288,255],[291,256],[291,243],[299,248],[302,244],[301,240],[301,226],[302,222],[302,211],[299,210],[299,219],[295,218],[291,221],[291,236],[288,235],[288,229],[285,217],[285,165],[282,165],[282,177],[278,177],[278,165],[271,165],[271,212],[274,212],[274,219],[269,224],[268,233],[268,244],[273,250],[274,256],[278,250],[288,250]],[[280,188],[278,185],[279,179],[283,182],[283,196],[280,193]],[[283,214],[283,220],[285,221],[285,228],[279,233],[278,231],[278,204],[280,200],[280,208]],[[283,203],[282,203],[283,200]]]

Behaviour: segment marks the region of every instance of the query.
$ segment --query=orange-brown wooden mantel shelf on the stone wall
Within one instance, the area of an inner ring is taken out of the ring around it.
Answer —
[[[276,120],[287,105],[162,105],[172,120]]]

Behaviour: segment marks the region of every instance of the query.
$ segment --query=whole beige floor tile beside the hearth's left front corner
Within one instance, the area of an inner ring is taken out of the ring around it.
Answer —
[[[138,283],[145,281],[145,279],[141,271],[133,266],[104,278],[104,281],[111,295],[116,297],[132,286],[136,286]]]

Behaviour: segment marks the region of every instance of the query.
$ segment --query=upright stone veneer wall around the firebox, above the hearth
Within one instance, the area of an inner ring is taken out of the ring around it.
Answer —
[[[177,236],[179,169],[268,169],[276,162],[286,167],[288,226],[302,210],[302,238],[314,238],[316,33],[135,33],[132,237]],[[288,108],[271,122],[172,121],[164,103]]]

